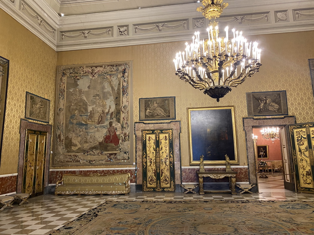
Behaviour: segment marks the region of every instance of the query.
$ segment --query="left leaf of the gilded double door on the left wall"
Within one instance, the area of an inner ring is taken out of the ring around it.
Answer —
[[[34,184],[35,157],[36,157],[36,134],[27,134],[25,159],[24,159],[24,180],[23,190],[25,193],[32,194]]]

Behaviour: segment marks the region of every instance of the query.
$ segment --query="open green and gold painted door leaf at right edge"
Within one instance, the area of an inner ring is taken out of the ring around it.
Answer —
[[[297,190],[314,193],[314,123],[294,124],[289,128]]]

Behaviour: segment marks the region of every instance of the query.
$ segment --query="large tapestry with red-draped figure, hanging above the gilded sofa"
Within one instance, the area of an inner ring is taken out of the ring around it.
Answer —
[[[53,166],[133,163],[130,66],[58,67]]]

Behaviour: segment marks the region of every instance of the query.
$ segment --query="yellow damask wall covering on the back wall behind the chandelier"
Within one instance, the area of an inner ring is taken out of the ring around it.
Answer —
[[[181,163],[189,165],[187,107],[236,107],[240,165],[247,164],[242,118],[247,117],[246,92],[287,91],[289,115],[297,122],[314,119],[314,99],[308,59],[314,58],[314,31],[246,36],[262,49],[260,72],[216,100],[195,90],[175,76],[173,58],[185,42],[58,52],[58,65],[133,60],[134,122],[139,120],[138,99],[176,97],[176,119],[181,120]],[[200,123],[202,125],[202,123]]]

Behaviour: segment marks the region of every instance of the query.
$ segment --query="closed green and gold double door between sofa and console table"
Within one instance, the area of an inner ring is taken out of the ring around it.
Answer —
[[[143,130],[143,191],[174,192],[172,129]]]

